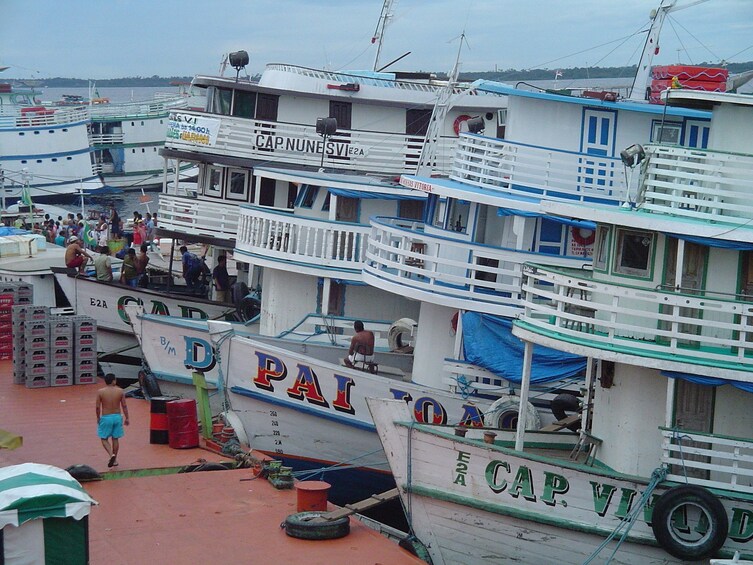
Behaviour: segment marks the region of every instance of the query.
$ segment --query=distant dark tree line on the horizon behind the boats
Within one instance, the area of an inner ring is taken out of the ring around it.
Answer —
[[[678,63],[679,64],[679,63]],[[702,67],[718,67],[716,63],[700,63]],[[727,70],[731,74],[741,73],[753,69],[753,61],[745,63],[728,63]],[[571,67],[561,69],[505,69],[495,71],[467,71],[460,74],[460,80],[491,80],[500,82],[525,81],[525,80],[554,80],[559,78],[563,81],[574,79],[600,79],[600,78],[621,78],[633,77],[636,72],[636,65],[628,67]],[[446,73],[435,73],[439,78],[446,78]],[[558,76],[557,76],[558,75]],[[258,79],[259,76],[251,77]],[[191,76],[173,76],[160,77],[152,75],[150,77],[123,77],[111,79],[97,79],[97,86],[100,87],[160,87],[170,86],[174,83],[190,83]],[[75,88],[87,87],[90,79],[54,77],[48,79],[15,79],[20,82],[33,83],[39,86],[48,86],[54,88]]]

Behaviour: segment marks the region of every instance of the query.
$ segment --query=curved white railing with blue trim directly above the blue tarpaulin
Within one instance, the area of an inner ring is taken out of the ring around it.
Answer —
[[[372,218],[364,280],[445,306],[514,316],[522,306],[522,265],[534,258],[580,267],[580,258],[547,257],[424,232],[420,222]]]

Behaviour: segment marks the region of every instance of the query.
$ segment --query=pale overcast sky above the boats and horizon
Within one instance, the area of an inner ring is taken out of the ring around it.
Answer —
[[[678,0],[678,6],[693,4]],[[396,0],[382,64],[461,69],[635,64],[659,0]],[[0,78],[216,74],[245,49],[266,63],[367,69],[381,0],[0,0]],[[670,14],[655,64],[753,60],[753,0],[708,0]]]

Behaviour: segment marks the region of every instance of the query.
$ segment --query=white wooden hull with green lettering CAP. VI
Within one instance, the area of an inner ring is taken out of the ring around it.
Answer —
[[[660,483],[641,508],[648,479],[581,465],[567,452],[555,459],[414,427],[402,403],[375,399],[369,407],[413,529],[435,564],[583,563],[634,509],[637,519],[611,562],[686,562],[660,547],[651,528],[656,502],[672,484]],[[753,505],[744,496],[720,501],[730,525],[723,552],[749,552],[742,517]],[[621,534],[596,562],[612,554]]]

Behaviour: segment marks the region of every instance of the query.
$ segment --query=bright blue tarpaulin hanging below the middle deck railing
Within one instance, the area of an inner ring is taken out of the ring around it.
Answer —
[[[469,363],[510,382],[520,383],[523,348],[523,342],[512,335],[512,320],[476,312],[463,314],[463,353]],[[532,383],[572,377],[585,369],[585,357],[541,345],[533,346]]]

